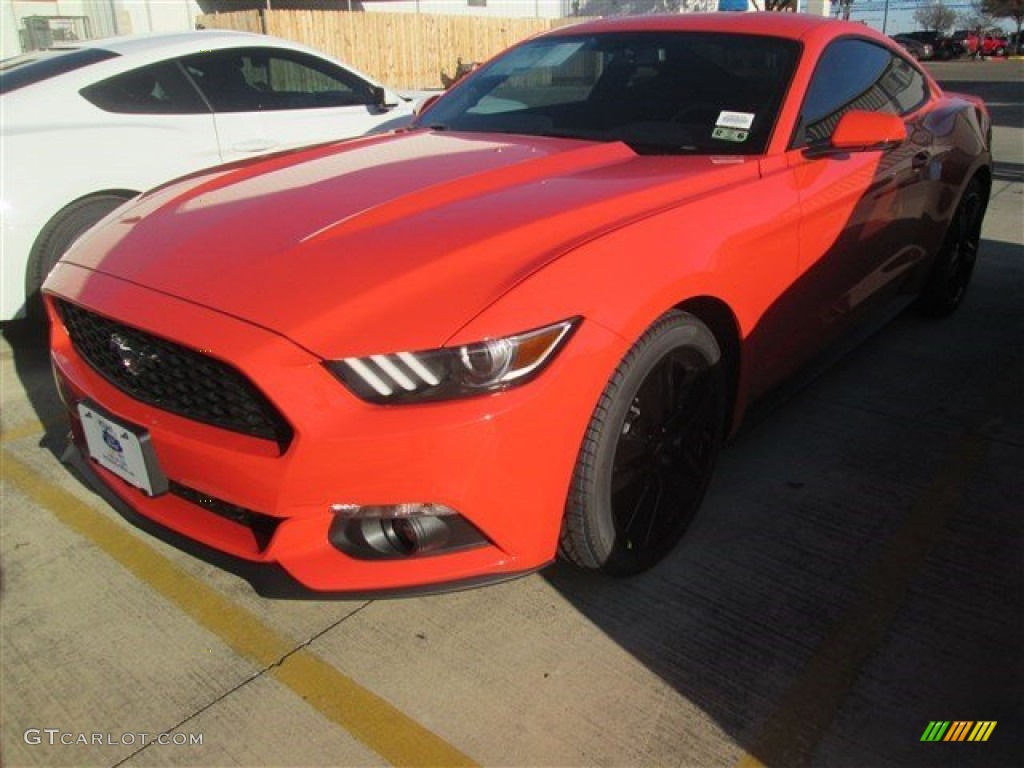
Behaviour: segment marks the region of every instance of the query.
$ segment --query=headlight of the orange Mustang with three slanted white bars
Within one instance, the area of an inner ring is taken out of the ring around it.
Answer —
[[[427,402],[496,392],[537,376],[579,325],[579,317],[460,347],[345,357],[326,362],[370,402]]]

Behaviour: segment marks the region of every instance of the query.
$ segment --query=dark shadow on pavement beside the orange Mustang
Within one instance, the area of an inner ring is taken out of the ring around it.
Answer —
[[[545,577],[765,765],[1016,765],[1019,260],[984,242],[956,315],[901,314],[744,431],[652,571]],[[997,726],[922,743],[933,720]]]

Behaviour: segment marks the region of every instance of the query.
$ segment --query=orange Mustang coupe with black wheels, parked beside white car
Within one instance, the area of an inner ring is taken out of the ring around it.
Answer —
[[[532,38],[406,130],[173,181],[74,246],[68,459],[264,594],[643,570],[752,399],[883,302],[961,303],[989,138],[862,25]]]

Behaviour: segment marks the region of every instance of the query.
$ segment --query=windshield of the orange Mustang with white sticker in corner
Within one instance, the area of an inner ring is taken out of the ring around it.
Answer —
[[[417,125],[624,141],[642,154],[758,155],[798,55],[794,41],[749,35],[540,38],[467,77]]]

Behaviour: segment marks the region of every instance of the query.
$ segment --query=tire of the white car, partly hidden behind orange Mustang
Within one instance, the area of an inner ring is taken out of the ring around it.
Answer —
[[[83,198],[65,206],[47,222],[33,246],[25,275],[25,305],[30,318],[42,322],[46,316],[39,289],[60,257],[101,218],[130,199],[118,194]]]

